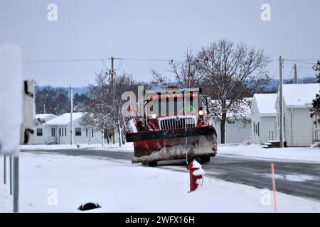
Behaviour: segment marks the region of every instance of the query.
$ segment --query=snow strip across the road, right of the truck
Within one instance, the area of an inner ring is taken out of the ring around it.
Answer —
[[[218,155],[320,162],[320,148],[262,148],[261,145],[218,145]]]

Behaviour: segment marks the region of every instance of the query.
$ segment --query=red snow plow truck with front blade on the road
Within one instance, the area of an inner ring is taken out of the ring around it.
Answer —
[[[143,91],[126,121],[127,142],[134,143],[132,162],[156,166],[161,160],[209,162],[217,152],[210,124],[212,103],[201,88]]]

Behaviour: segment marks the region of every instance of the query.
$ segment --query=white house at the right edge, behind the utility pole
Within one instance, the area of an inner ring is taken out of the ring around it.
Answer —
[[[320,126],[310,117],[309,107],[320,84],[284,84],[284,140],[287,146],[309,146],[319,140]],[[279,92],[274,107],[277,110],[277,131],[279,131]],[[279,133],[278,133],[279,134]],[[279,135],[278,135],[279,140]]]

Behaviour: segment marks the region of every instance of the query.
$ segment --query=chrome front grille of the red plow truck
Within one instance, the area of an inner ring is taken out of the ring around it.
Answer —
[[[161,130],[176,128],[192,128],[196,127],[195,118],[169,118],[159,119],[159,127]]]

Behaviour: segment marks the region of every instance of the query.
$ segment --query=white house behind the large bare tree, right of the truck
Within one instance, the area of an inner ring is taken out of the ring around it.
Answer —
[[[251,136],[251,124],[250,124],[250,104],[252,98],[245,98],[240,104],[240,111],[228,111],[227,118],[225,121],[225,143],[242,143],[249,139]],[[213,100],[215,106],[217,101]],[[218,106],[218,109],[221,109]],[[221,143],[221,128],[220,120],[215,118],[213,126],[218,135],[218,143]]]

